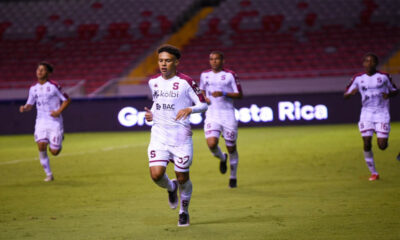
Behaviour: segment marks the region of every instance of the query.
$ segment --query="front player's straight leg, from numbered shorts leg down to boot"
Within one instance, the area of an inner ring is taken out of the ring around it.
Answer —
[[[180,209],[178,226],[190,225],[189,203],[192,198],[192,181],[189,177],[189,167],[193,159],[193,145],[184,144],[178,147],[171,147],[174,155],[175,174],[179,185]]]

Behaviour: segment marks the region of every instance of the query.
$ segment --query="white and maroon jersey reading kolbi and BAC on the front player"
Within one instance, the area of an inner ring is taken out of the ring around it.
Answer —
[[[207,104],[196,82],[189,76],[177,73],[170,79],[164,79],[161,74],[149,80],[149,87],[153,95],[153,126],[151,128],[152,141],[166,145],[179,146],[192,141],[192,131],[189,117],[175,120],[179,110],[195,106],[200,111],[207,110]],[[192,108],[193,113],[196,112]]]

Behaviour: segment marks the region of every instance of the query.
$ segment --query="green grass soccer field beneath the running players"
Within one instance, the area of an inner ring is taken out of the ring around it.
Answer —
[[[240,129],[237,189],[196,130],[188,228],[149,177],[148,141],[66,134],[45,183],[33,136],[0,136],[0,239],[400,239],[400,123],[386,151],[374,138],[377,182],[356,124]]]

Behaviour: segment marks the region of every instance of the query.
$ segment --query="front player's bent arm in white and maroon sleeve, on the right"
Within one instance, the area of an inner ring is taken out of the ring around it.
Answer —
[[[195,83],[193,83],[193,85],[189,87],[188,91],[188,95],[194,105],[179,110],[175,120],[186,119],[191,113],[201,113],[207,111],[208,109],[204,95]]]

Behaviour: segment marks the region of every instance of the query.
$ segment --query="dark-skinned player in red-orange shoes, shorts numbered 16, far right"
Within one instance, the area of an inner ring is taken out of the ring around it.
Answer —
[[[378,63],[375,54],[366,54],[363,60],[365,73],[355,75],[344,93],[345,98],[357,92],[361,94],[362,108],[358,127],[364,142],[365,162],[371,172],[370,181],[379,179],[372,153],[372,136],[375,132],[381,150],[387,148],[390,132],[389,98],[398,93],[391,77],[377,71]]]

